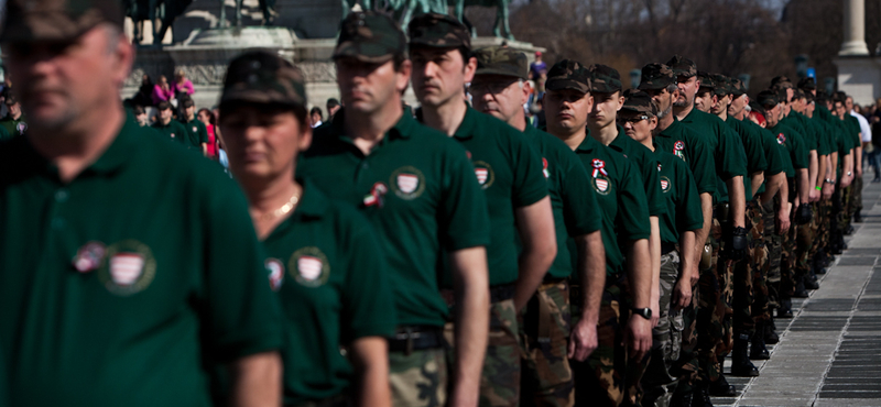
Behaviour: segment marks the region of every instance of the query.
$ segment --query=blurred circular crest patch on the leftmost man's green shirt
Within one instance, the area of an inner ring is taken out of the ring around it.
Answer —
[[[146,244],[123,240],[107,248],[98,279],[112,294],[130,296],[143,292],[156,275],[156,260]]]

